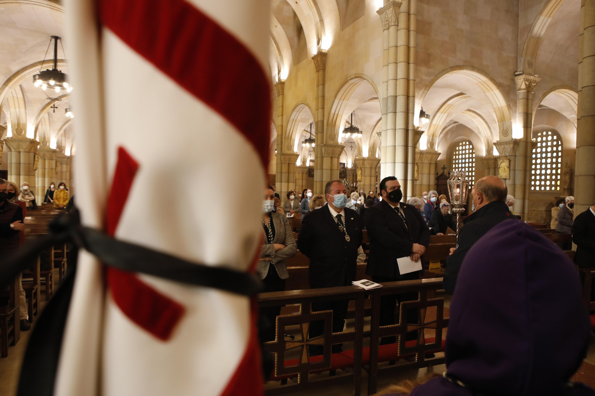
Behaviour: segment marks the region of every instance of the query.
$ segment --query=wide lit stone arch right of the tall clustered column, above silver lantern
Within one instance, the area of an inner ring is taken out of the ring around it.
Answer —
[[[445,70],[438,73],[434,78],[432,78],[417,100],[419,105],[416,106],[416,116],[419,114],[418,107],[421,108],[425,96],[430,91],[430,89],[434,86],[434,84],[437,83],[437,81],[447,76],[462,77],[465,80],[470,81],[474,86],[481,90],[488,103],[490,103],[490,113],[497,122],[497,129],[499,133],[497,136],[494,136],[494,140],[497,140],[497,137],[499,137],[500,140],[509,140],[512,138],[512,111],[508,105],[508,102],[506,102],[506,99],[502,95],[500,87],[496,81],[486,72],[468,65],[446,68]],[[494,134],[496,125],[490,129]]]

